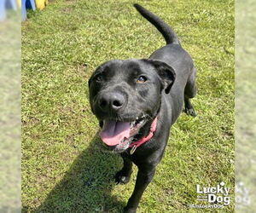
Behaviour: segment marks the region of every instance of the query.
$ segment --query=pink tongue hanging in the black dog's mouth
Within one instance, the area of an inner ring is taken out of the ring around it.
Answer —
[[[100,133],[102,141],[108,146],[115,146],[130,136],[130,123],[105,120]]]

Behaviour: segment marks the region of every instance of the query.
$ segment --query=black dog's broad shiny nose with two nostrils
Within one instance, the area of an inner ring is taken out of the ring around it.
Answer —
[[[99,105],[103,111],[117,111],[125,105],[125,97],[119,93],[108,93],[102,95]]]

